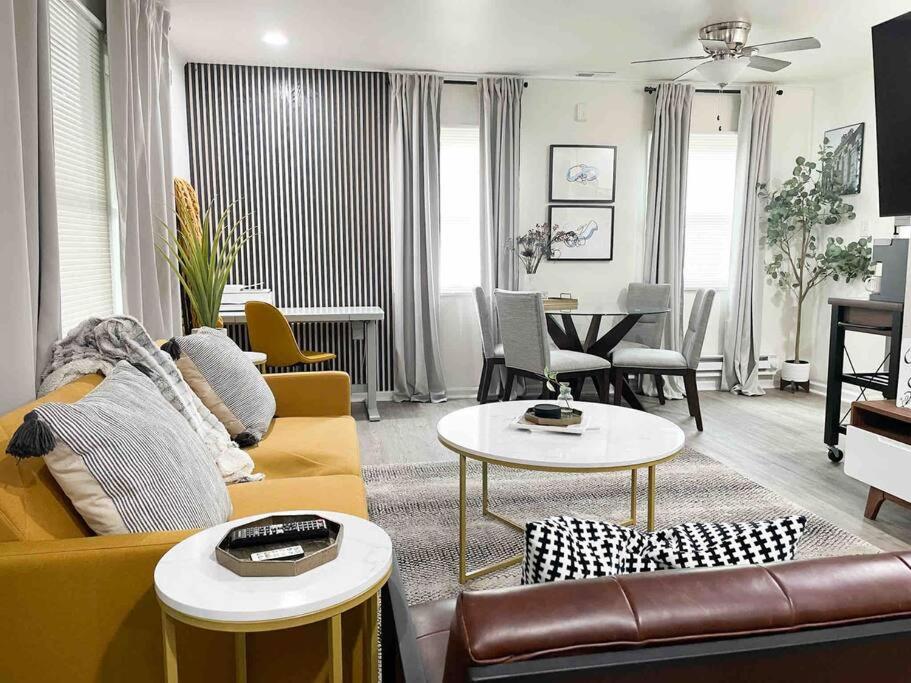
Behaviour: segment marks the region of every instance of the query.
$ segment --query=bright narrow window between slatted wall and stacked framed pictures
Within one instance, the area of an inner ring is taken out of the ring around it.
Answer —
[[[481,283],[480,138],[474,126],[440,130],[440,290]]]

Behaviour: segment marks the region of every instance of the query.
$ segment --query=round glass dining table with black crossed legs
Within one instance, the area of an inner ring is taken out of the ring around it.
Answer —
[[[601,358],[609,358],[611,351],[629,333],[633,326],[644,316],[665,315],[670,311],[662,306],[625,306],[620,304],[599,305],[584,308],[548,308],[544,311],[547,318],[547,332],[557,348],[566,351],[581,351]],[[576,320],[590,318],[585,340],[579,336]],[[609,318],[613,323],[601,333],[601,323]],[[632,387],[623,380],[623,399],[632,408],[644,410],[642,402]]]

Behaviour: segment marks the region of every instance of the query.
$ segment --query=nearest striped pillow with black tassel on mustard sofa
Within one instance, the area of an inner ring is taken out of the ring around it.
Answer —
[[[76,403],[36,407],[7,452],[43,455],[97,534],[195,529],[231,514],[206,445],[152,380],[126,361]]]

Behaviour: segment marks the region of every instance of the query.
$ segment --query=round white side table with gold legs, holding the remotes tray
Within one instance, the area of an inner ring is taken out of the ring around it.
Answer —
[[[171,548],[155,567],[155,593],[162,609],[165,680],[177,681],[174,621],[235,634],[235,669],[246,681],[246,634],[328,620],[334,682],[342,680],[343,612],[366,609],[370,661],[376,679],[377,595],[392,571],[392,541],[372,522],[340,512],[319,514],[344,526],[338,557],[298,576],[238,576],[215,559],[215,546],[232,528],[270,513],[235,519],[194,534]]]

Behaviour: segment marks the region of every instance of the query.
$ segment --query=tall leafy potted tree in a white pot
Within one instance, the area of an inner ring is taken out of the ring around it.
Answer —
[[[851,282],[872,275],[872,240],[861,237],[845,242],[823,231],[855,218],[854,207],[845,203],[831,178],[833,152],[823,140],[816,161],[797,157],[794,171],[777,190],[759,186],[766,200],[764,241],[770,249],[766,273],[772,282],[789,292],[797,307],[794,356],[781,368],[782,382],[803,383],[810,379],[810,363],[800,355],[803,305],[813,288],[828,279]]]

